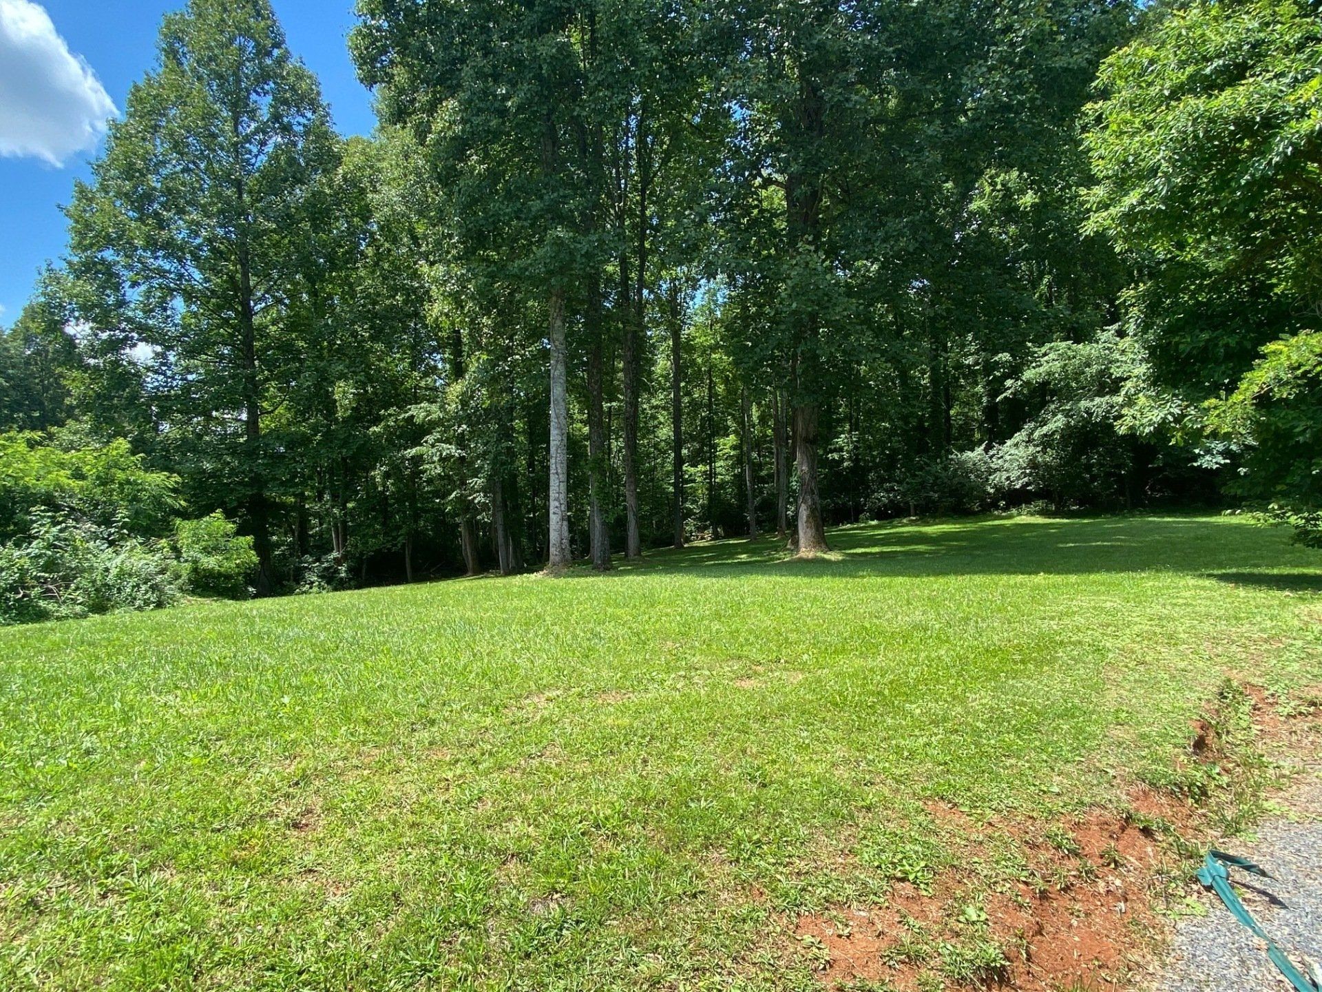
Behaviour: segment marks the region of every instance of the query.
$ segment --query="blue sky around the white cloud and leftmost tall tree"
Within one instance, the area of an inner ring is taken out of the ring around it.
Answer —
[[[0,16],[26,13],[30,22],[32,7],[38,3],[56,33],[87,62],[120,111],[128,87],[155,65],[161,16],[184,5],[184,0],[0,0]],[[321,79],[340,131],[370,134],[375,126],[371,99],[354,75],[345,42],[354,22],[353,0],[274,0],[274,7],[290,48]],[[0,60],[5,57],[0,52]],[[0,101],[12,101],[5,85],[0,78]],[[11,79],[8,85],[26,83]],[[91,86],[95,90],[95,83]],[[0,149],[5,126],[0,112]],[[0,155],[0,327],[19,316],[41,265],[63,253],[65,217],[59,204],[69,202],[75,177],[89,177],[87,163],[99,148],[98,143],[90,152],[73,152],[59,168],[33,152],[16,155],[11,148]]]

